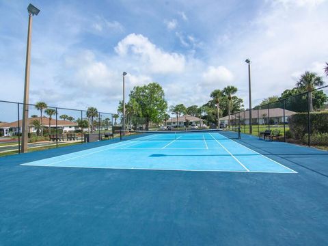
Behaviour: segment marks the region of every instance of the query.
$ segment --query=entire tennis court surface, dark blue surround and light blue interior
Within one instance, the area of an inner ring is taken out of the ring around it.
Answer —
[[[212,131],[4,156],[0,244],[327,245],[327,163]]]

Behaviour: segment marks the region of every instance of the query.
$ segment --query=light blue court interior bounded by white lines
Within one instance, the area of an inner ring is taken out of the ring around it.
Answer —
[[[23,163],[46,167],[296,173],[219,133],[152,134]]]

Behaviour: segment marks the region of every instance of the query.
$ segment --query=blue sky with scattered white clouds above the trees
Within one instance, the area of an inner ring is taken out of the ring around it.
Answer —
[[[29,1],[0,0],[0,100],[23,102]],[[116,113],[136,85],[168,105],[203,105],[227,85],[248,108],[328,62],[327,0],[31,2],[30,103]]]

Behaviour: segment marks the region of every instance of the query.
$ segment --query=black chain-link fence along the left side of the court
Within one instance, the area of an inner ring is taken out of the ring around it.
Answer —
[[[0,100],[0,156],[115,139],[114,126],[120,129],[121,118],[113,113]],[[27,141],[22,141],[24,125]]]

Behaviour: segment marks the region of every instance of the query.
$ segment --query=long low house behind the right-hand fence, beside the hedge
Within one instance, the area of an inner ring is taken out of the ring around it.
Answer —
[[[252,124],[282,124],[288,122],[288,117],[294,115],[296,112],[285,109],[274,108],[270,109],[252,109],[251,110],[251,122]],[[270,118],[269,118],[270,117]],[[230,124],[249,124],[249,110],[234,113],[230,115]],[[220,124],[228,125],[228,115],[220,118]]]

